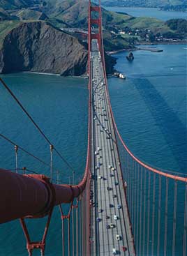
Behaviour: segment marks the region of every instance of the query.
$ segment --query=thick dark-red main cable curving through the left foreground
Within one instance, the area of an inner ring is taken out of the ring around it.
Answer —
[[[78,185],[54,184],[50,187],[43,175],[29,176],[0,170],[0,223],[25,216],[44,216],[50,211],[52,201],[54,205],[71,202],[84,190],[88,173],[89,168]]]

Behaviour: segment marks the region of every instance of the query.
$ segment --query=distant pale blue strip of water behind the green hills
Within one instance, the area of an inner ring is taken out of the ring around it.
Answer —
[[[138,7],[105,7],[106,10],[120,13],[128,13],[133,17],[154,17],[158,20],[186,19],[187,13],[158,10],[157,8],[138,8]]]

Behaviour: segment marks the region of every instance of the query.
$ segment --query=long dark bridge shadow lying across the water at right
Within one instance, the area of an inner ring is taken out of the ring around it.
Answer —
[[[154,117],[176,159],[180,172],[187,172],[187,130],[177,113],[167,104],[163,96],[146,78],[132,80]]]

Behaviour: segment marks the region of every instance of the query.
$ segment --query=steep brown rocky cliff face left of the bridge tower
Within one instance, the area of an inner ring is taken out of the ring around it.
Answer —
[[[0,50],[0,73],[33,71],[82,75],[86,69],[84,45],[45,22],[20,24],[8,33]]]

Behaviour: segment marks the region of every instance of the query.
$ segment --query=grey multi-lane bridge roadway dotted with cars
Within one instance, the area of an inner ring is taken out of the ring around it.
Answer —
[[[119,156],[112,125],[112,116],[105,87],[100,52],[93,40],[91,51],[92,114],[93,114],[93,167],[91,190],[91,255],[134,255],[126,197],[119,165]],[[100,150],[98,150],[98,148]],[[97,154],[95,153],[97,151]],[[112,170],[111,167],[114,168]],[[110,205],[111,204],[111,205]],[[121,206],[121,209],[118,209]],[[102,212],[99,212],[101,209]],[[117,216],[117,220],[114,220]],[[99,218],[99,219],[98,219]],[[107,229],[107,225],[114,227]],[[117,240],[117,234],[120,240]],[[123,247],[127,248],[124,252]]]

